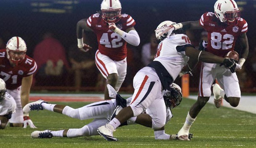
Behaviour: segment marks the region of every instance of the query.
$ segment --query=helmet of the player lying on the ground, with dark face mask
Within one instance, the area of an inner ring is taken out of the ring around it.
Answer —
[[[182,92],[180,86],[175,83],[170,84],[170,88],[170,91],[165,90],[164,100],[167,107],[174,108],[180,105],[180,102],[182,101]]]

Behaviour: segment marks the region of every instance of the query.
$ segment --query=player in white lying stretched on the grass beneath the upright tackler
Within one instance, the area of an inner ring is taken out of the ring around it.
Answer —
[[[178,86],[178,85],[173,84],[173,86]],[[94,118],[94,120],[91,123],[89,123],[88,125],[85,125],[82,128],[59,130],[59,131],[51,131],[51,130],[34,131],[33,133],[31,133],[31,137],[32,138],[52,138],[52,137],[75,138],[80,136],[98,135],[97,128],[107,123],[107,119],[110,117],[110,115],[112,115],[115,108],[126,107],[131,102],[131,97],[125,100],[122,97],[120,97],[119,94],[117,94],[117,92],[113,87],[111,87],[110,85],[107,85],[107,87],[108,87],[108,92],[110,93],[110,97],[112,98],[116,97],[116,99],[95,102],[95,103],[86,105],[84,107],[80,107],[78,109],[73,109],[65,105],[48,104],[43,100],[38,100],[36,102],[29,103],[23,108],[24,112],[30,112],[31,110],[50,110],[53,112],[58,112],[58,113],[67,115],[69,117],[77,118],[79,120]],[[181,91],[180,89],[177,90],[176,88],[177,87],[175,88],[173,87],[172,91],[166,91],[164,94],[165,100],[168,106],[171,106],[171,107],[178,106],[182,100]],[[166,108],[166,114],[167,114],[166,120],[168,121],[172,117],[172,112],[170,110],[170,107],[165,107],[165,108]],[[128,122],[125,122],[125,124],[123,125],[138,123],[138,124],[152,128],[152,122],[156,124],[155,122],[157,121],[155,120],[157,120],[157,118],[154,117],[154,115],[152,114],[153,112],[151,110],[146,110],[146,112],[149,112],[149,115],[143,113],[138,117],[132,117],[128,120]],[[118,111],[116,111],[115,114],[118,114]],[[165,139],[165,140],[177,139],[176,135],[165,134],[164,129],[155,131],[154,133],[155,133],[155,139]],[[190,138],[192,138],[191,135],[190,135]]]

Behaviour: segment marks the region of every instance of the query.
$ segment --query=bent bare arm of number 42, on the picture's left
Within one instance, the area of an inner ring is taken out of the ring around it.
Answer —
[[[87,19],[79,20],[76,24],[76,37],[77,37],[77,46],[81,51],[87,52],[92,47],[84,43],[83,34],[84,31],[92,31],[86,23]]]

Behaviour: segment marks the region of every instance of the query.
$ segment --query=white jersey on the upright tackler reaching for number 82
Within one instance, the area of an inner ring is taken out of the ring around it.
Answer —
[[[175,79],[189,60],[185,55],[188,46],[192,45],[187,35],[172,35],[159,43],[154,61],[159,61]]]

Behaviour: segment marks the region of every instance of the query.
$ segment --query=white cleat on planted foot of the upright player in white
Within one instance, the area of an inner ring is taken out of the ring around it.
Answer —
[[[118,141],[117,138],[113,137],[114,130],[115,129],[112,125],[107,124],[107,125],[103,125],[103,126],[99,127],[97,129],[97,132],[99,133],[99,135],[104,137],[104,139],[106,139],[107,141]]]

